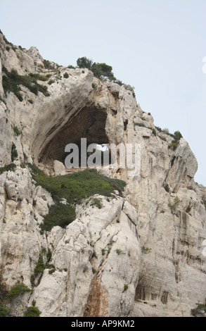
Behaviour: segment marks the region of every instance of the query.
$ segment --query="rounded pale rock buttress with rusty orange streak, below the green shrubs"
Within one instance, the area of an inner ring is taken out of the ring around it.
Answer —
[[[136,227],[122,213],[122,199],[99,198],[99,211],[79,206],[82,216],[67,226],[53,251],[56,271],[44,271],[31,297],[42,316],[127,316],[134,306],[141,254]]]

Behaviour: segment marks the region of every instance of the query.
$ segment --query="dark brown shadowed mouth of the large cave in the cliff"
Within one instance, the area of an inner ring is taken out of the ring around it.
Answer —
[[[86,138],[87,146],[109,144],[105,132],[107,115],[108,113],[103,109],[92,106],[82,108],[67,120],[67,123],[44,146],[39,153],[38,162],[53,165],[53,161],[58,160],[64,164],[68,155],[65,153],[65,146],[70,143],[77,144],[80,152],[81,138]]]

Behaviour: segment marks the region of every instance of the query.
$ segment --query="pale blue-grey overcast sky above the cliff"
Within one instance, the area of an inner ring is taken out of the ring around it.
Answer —
[[[60,65],[112,65],[158,127],[179,130],[206,186],[205,0],[0,0],[9,42]],[[205,66],[204,66],[205,65]]]

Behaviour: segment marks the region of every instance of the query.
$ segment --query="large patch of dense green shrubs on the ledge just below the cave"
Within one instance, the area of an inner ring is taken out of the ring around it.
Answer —
[[[49,191],[56,202],[50,206],[49,213],[44,216],[44,223],[41,223],[42,231],[49,231],[56,225],[65,227],[70,224],[76,218],[73,205],[80,203],[82,199],[94,194],[110,196],[115,189],[122,195],[126,185],[122,180],[115,180],[98,174],[95,169],[86,169],[79,173],[52,177],[46,176],[34,164],[29,164],[29,166],[37,185],[41,185]],[[60,202],[63,198],[66,199],[67,204]],[[92,203],[101,208],[101,201],[98,200],[94,198]]]

